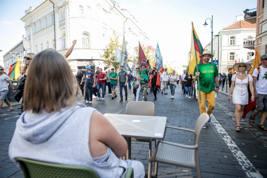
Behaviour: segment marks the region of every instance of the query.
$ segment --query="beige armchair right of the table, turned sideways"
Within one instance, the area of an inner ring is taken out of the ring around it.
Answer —
[[[189,131],[194,134],[194,145],[192,146],[192,145],[185,145],[185,144],[164,141],[163,137],[162,140],[158,141],[157,148],[155,149],[153,156],[149,159],[148,178],[151,178],[152,162],[155,162],[155,177],[157,177],[158,174],[157,169],[159,162],[159,163],[165,163],[165,164],[171,164],[171,165],[177,165],[195,169],[197,172],[197,177],[201,178],[198,148],[200,144],[201,130],[205,125],[205,123],[208,122],[208,119],[209,119],[208,114],[206,113],[201,114],[197,119],[195,130],[166,126],[164,131],[164,137],[167,128]]]

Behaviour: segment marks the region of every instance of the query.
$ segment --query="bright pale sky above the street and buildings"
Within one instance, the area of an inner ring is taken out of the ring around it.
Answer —
[[[0,60],[25,34],[24,22],[20,20],[30,6],[37,7],[45,0],[0,0],[0,34],[2,43]],[[256,8],[256,0],[116,0],[121,9],[127,9],[146,32],[149,45],[157,42],[163,61],[186,64],[191,47],[191,22],[203,47],[211,40],[210,20],[213,15],[213,35],[235,22],[245,9]],[[126,39],[127,40],[127,39]],[[138,45],[138,44],[137,44]]]

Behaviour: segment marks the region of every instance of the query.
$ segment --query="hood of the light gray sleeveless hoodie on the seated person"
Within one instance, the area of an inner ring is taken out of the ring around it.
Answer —
[[[28,142],[39,144],[47,141],[77,109],[86,107],[77,103],[75,107],[62,108],[61,111],[41,114],[23,112],[16,123],[16,131]]]

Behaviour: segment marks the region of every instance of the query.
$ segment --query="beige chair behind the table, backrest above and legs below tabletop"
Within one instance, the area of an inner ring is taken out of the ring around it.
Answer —
[[[125,114],[155,116],[155,105],[153,102],[131,101],[131,102],[128,102],[126,105]],[[156,139],[132,138],[132,141],[148,142],[149,143],[149,158],[151,158],[152,141],[155,141],[155,148],[156,148],[156,144],[157,144]]]

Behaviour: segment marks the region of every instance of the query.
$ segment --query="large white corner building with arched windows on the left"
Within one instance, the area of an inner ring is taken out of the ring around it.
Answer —
[[[138,22],[125,9],[120,9],[112,0],[66,1],[52,0],[43,2],[37,8],[28,9],[21,18],[25,22],[27,53],[39,53],[51,48],[65,54],[72,41],[77,43],[67,58],[73,73],[90,65],[107,69],[100,58],[109,43],[113,31],[128,41],[128,53],[138,41],[147,45],[149,40],[140,29]]]

